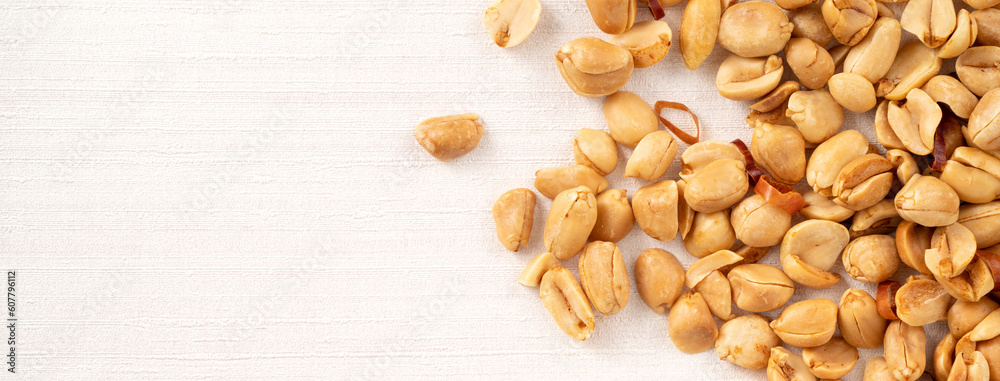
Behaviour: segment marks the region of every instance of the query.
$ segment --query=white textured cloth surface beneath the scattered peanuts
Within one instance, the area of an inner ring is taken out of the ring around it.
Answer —
[[[497,242],[490,207],[571,164],[577,129],[606,127],[601,100],[570,92],[552,57],[601,33],[582,0],[544,0],[531,38],[501,50],[487,6],[0,1],[17,378],[763,379],[713,351],[681,354],[634,291],[581,343],[515,282],[542,250],[549,201],[519,253]],[[681,10],[668,10],[675,33]],[[691,72],[674,42],[626,89],[686,103],[704,139],[749,141],[747,102],[715,91],[721,48]],[[413,127],[459,112],[480,113],[486,135],[440,163]],[[644,182],[622,180],[629,152],[609,178],[631,194]],[[647,247],[693,262],[638,228],[621,247],[630,269]],[[793,301],[848,285],[864,287]]]

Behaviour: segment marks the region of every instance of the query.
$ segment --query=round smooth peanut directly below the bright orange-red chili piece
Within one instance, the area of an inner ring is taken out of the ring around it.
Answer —
[[[777,245],[792,225],[788,212],[769,204],[758,194],[736,204],[730,220],[736,238],[752,247]]]

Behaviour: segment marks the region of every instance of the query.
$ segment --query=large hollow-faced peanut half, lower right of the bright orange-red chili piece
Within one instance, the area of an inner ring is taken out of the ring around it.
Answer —
[[[829,270],[849,241],[844,225],[825,220],[800,222],[781,240],[781,267],[789,278],[806,287],[830,287],[840,275]]]

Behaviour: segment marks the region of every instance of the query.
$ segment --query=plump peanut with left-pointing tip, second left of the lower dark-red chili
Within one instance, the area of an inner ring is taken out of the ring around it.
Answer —
[[[830,299],[808,299],[789,304],[771,329],[788,345],[807,348],[826,344],[837,328],[837,305]]]

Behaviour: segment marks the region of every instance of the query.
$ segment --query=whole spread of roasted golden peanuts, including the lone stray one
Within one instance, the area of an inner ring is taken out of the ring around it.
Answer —
[[[910,0],[897,21],[875,0],[688,0],[681,58],[695,70],[716,43],[732,53],[716,86],[727,99],[755,100],[748,147],[698,141],[660,114],[689,111],[683,105],[651,108],[621,91],[635,68],[667,56],[671,29],[636,23],[637,0],[587,0],[610,36],[570,41],[556,66],[572,91],[605,97],[608,130],[579,130],[575,165],[535,174],[535,190],[552,199],[546,252],[518,281],[539,288],[562,331],[586,340],[593,310],[608,316],[628,304],[629,269],[616,242],[638,225],[664,242],[679,234],[698,258],[685,270],[674,254],[650,248],[632,269],[639,296],[669,314],[669,337],[683,352],[714,348],[722,360],[766,368],[768,380],[816,380],[847,375],[857,348],[883,347],[884,357],[865,365],[865,380],[928,373],[1000,381],[1000,0],[963,1]],[[641,2],[658,20],[680,0]],[[538,0],[497,0],[484,23],[498,46],[512,47],[540,14]],[[902,31],[915,39],[903,43]],[[941,74],[952,58],[953,74]],[[781,81],[785,64],[797,81]],[[845,109],[875,110],[881,147],[842,129]],[[478,145],[478,120],[429,119],[415,137],[452,160]],[[660,123],[689,144],[679,179],[661,179],[678,143]],[[624,176],[650,182],[631,200],[605,177],[619,145],[633,148]],[[506,249],[527,246],[535,203],[532,190],[519,188],[493,205]],[[757,263],[774,246],[780,268]],[[559,264],[578,255],[579,282]],[[851,288],[839,303],[788,304],[797,287],[839,283],[831,272],[838,259],[851,278],[877,284],[876,295]],[[919,275],[890,280],[904,265]],[[773,321],[758,314],[779,309]],[[924,326],[938,322],[949,333],[928,367]]]

